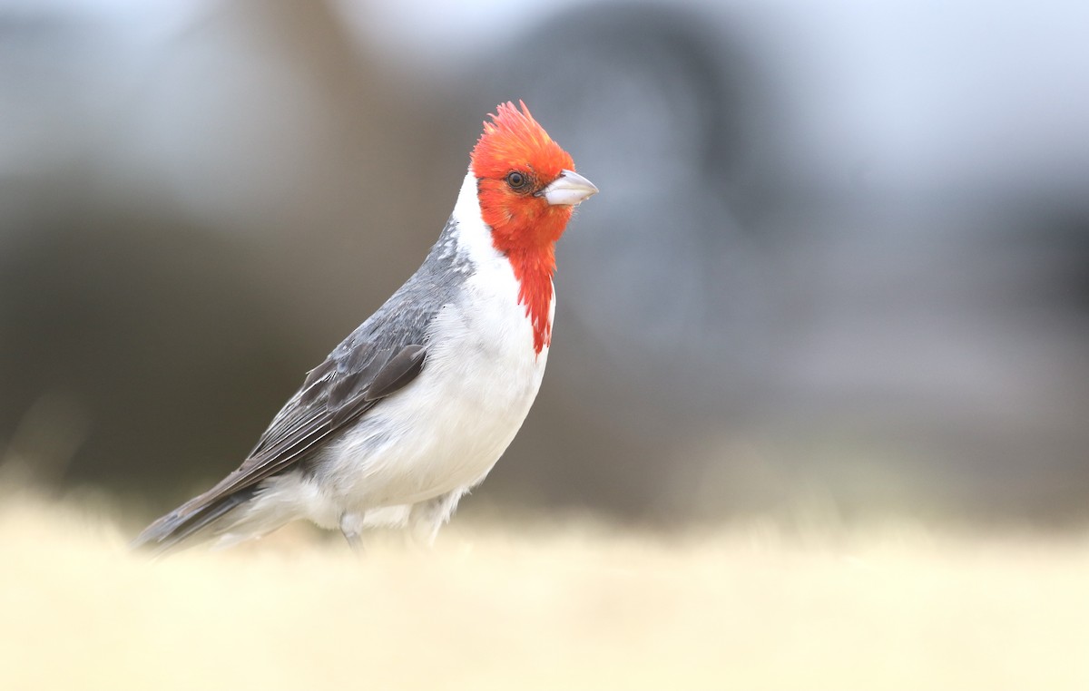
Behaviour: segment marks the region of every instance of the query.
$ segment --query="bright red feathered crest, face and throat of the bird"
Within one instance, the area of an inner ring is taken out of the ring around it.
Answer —
[[[525,305],[533,324],[534,350],[539,355],[552,340],[549,312],[555,242],[563,235],[572,208],[551,206],[533,194],[543,189],[563,170],[574,170],[571,156],[521,103],[502,103],[484,124],[484,134],[473,149],[473,174],[484,222],[491,227],[492,245],[506,256],[518,281],[518,304]],[[518,172],[527,178],[524,189],[512,189],[507,176]]]

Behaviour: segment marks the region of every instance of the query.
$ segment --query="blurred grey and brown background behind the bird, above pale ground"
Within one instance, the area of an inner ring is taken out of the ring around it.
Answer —
[[[522,98],[602,192],[464,509],[1084,521],[1086,26],[1074,0],[0,0],[3,472],[150,515],[233,469]]]

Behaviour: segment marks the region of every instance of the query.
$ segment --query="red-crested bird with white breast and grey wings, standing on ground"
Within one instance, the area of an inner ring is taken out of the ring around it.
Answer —
[[[555,244],[598,193],[525,102],[489,114],[423,264],[273,417],[242,465],[136,548],[230,546],[295,520],[426,544],[529,412],[555,314]]]

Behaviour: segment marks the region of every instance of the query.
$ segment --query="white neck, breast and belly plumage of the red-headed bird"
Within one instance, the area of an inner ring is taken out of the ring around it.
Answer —
[[[472,175],[454,218],[473,275],[436,319],[420,375],[330,446],[318,469],[325,506],[307,510],[316,522],[334,522],[333,511],[413,504],[480,482],[537,396],[548,348],[534,351],[517,280],[491,245]],[[552,310],[554,303],[553,296]]]

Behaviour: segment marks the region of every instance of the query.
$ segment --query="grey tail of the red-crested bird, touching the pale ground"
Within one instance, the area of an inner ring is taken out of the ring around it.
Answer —
[[[233,517],[228,515],[257,493],[257,488],[252,486],[216,497],[216,490],[212,488],[159,518],[145,528],[130,546],[160,556],[211,540],[234,523]]]

